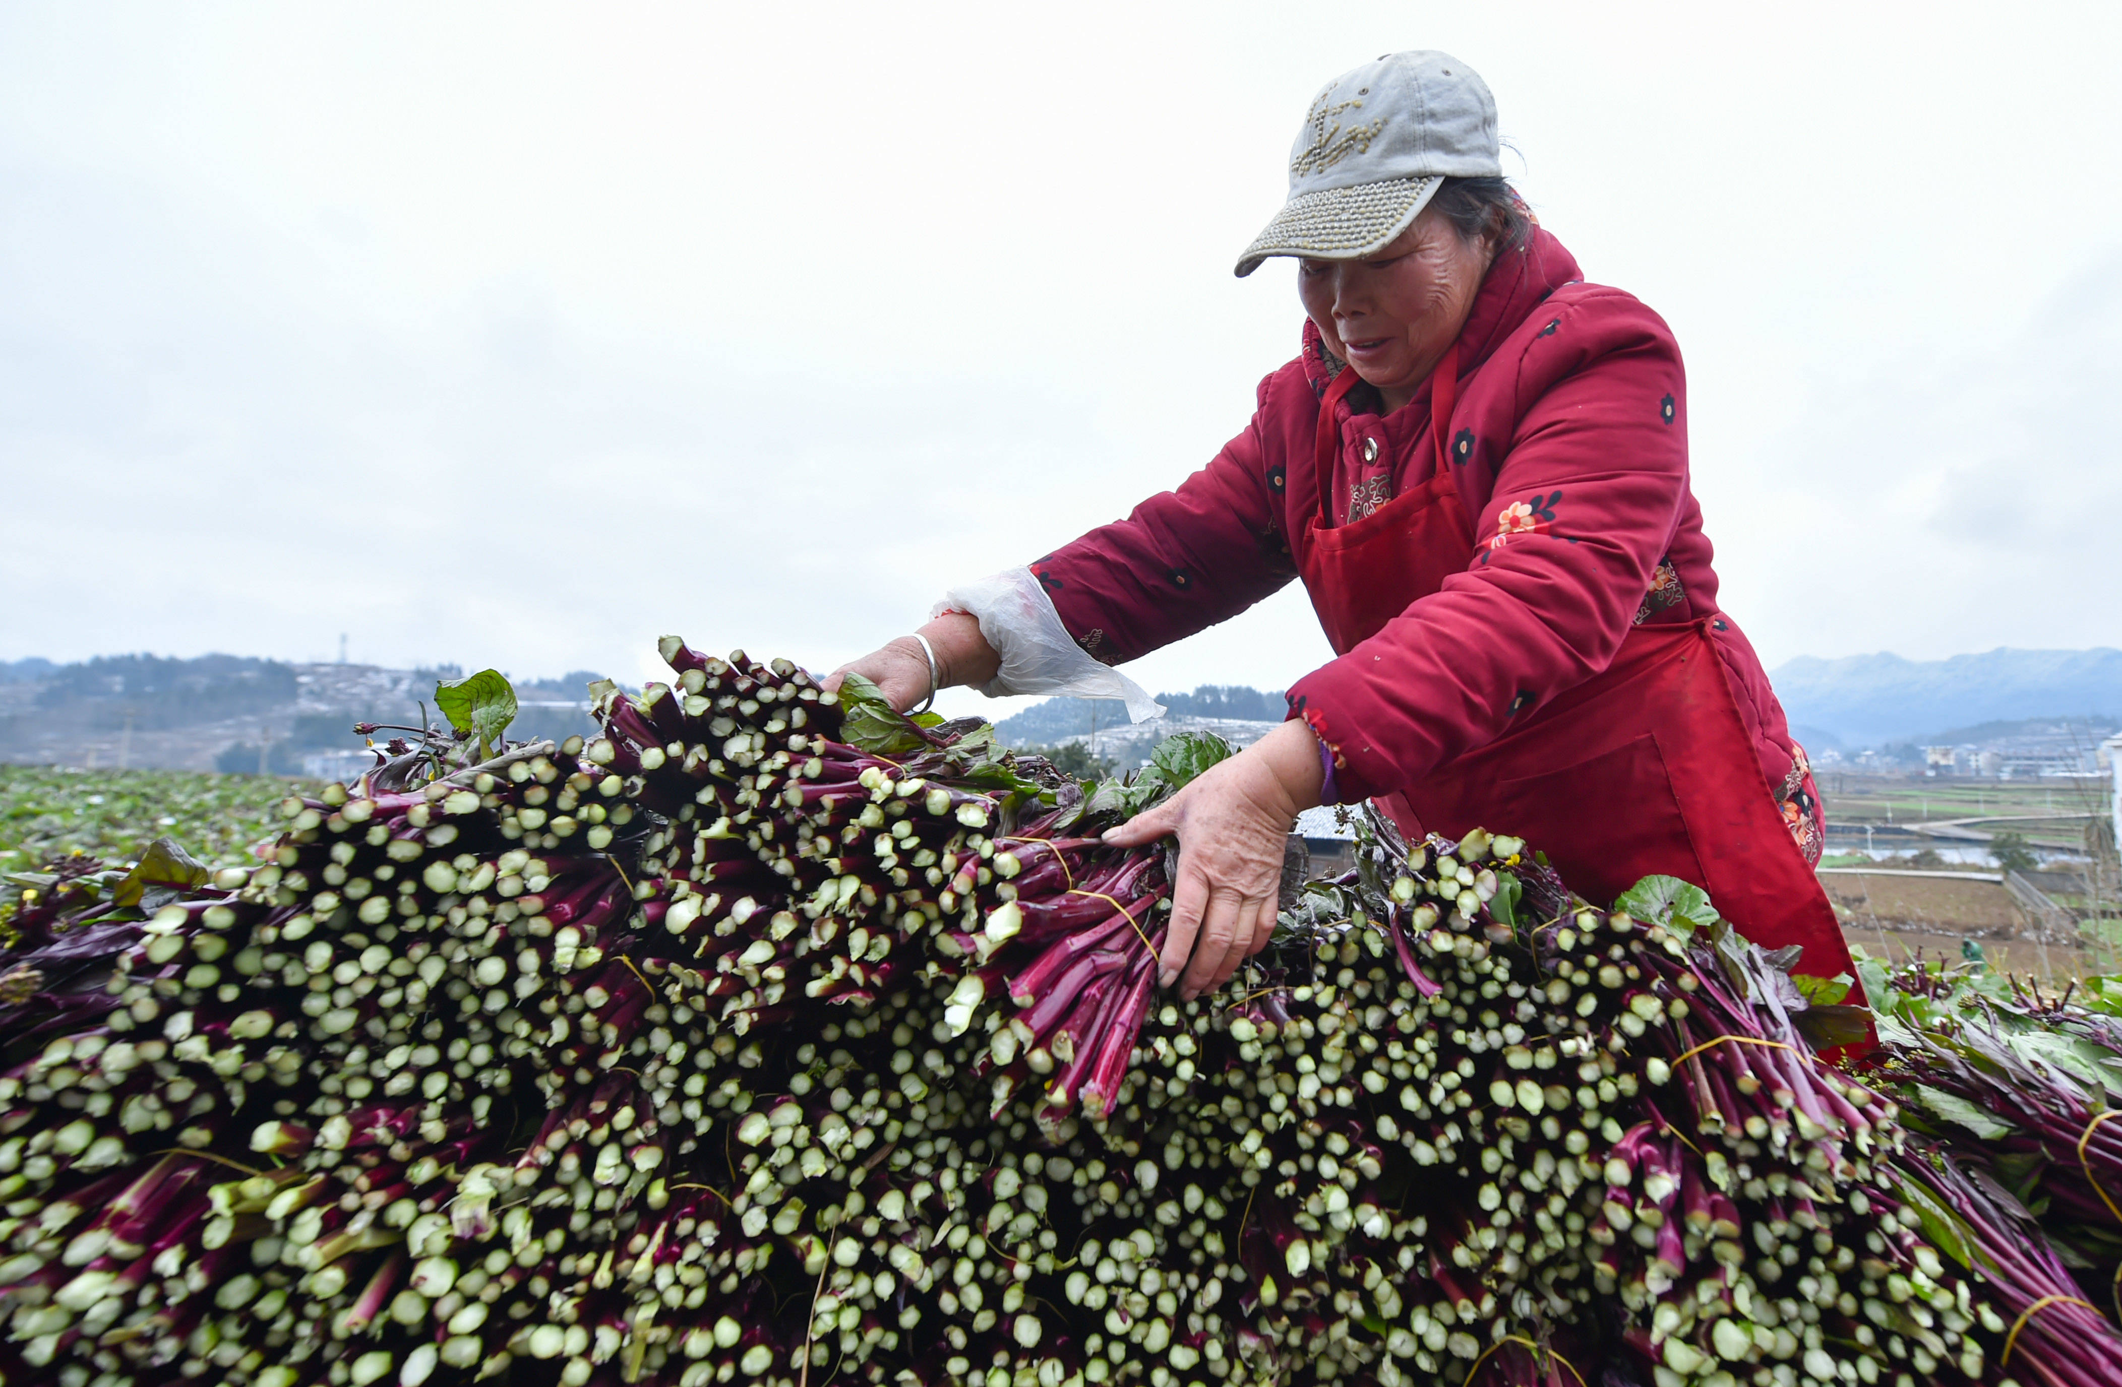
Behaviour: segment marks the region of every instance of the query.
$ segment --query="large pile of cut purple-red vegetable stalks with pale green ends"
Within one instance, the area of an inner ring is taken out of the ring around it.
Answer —
[[[1509,838],[1154,990],[1165,848],[785,662],[289,802],[250,874],[23,878],[6,1383],[2107,1381],[2014,1196],[1706,901]],[[477,761],[477,763],[473,763]],[[1700,895],[1700,893],[1695,893]]]

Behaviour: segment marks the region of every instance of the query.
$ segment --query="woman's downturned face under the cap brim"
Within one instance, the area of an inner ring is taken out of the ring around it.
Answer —
[[[1488,240],[1462,242],[1449,221],[1424,208],[1373,257],[1301,261],[1297,297],[1326,350],[1377,386],[1392,414],[1466,327],[1488,261]]]

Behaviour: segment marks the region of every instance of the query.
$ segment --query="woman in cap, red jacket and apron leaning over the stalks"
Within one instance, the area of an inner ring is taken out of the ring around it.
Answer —
[[[1524,836],[1594,897],[1685,878],[1844,971],[1806,755],[1717,604],[1679,346],[1502,180],[1481,78],[1415,51],[1328,83],[1237,274],[1271,254],[1299,259],[1303,350],[1243,433],[847,668],[900,708],[978,685],[1142,715],[1110,666],[1301,579],[1337,657],[1290,721],[1108,833],[1180,842],[1163,986],[1222,984],[1273,929],[1297,812],[1364,797],[1411,836]]]

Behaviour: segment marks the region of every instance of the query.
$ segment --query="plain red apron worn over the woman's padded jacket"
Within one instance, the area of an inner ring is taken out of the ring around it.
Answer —
[[[1375,636],[1471,560],[1473,524],[1445,454],[1458,344],[1430,380],[1437,475],[1339,528],[1326,509],[1335,405],[1356,371],[1343,367],[1320,401],[1318,507],[1297,568],[1335,653]],[[1645,876],[1679,876],[1755,944],[1804,946],[1797,971],[1855,976],[1833,906],[1776,812],[1706,621],[1634,628],[1604,672],[1381,804],[1415,838],[1460,838],[1477,825],[1519,836],[1600,903]]]

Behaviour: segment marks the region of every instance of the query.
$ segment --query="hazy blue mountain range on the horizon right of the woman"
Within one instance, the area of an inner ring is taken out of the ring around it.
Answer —
[[[1878,747],[2039,717],[2122,713],[2122,651],[2014,651],[1950,660],[1893,653],[1814,660],[1770,672],[1799,740]],[[1825,734],[1825,736],[1821,736]]]

